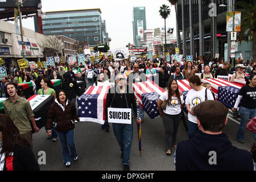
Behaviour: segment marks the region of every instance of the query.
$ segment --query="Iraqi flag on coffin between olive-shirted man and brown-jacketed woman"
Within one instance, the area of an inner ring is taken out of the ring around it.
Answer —
[[[32,111],[34,113],[34,118],[36,126],[41,129],[46,125],[47,122],[47,113],[49,107],[54,102],[54,96],[49,95],[34,95],[28,98],[30,102]]]

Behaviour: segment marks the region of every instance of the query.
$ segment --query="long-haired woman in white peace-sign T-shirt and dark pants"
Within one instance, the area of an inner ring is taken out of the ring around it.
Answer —
[[[183,94],[179,92],[179,85],[174,78],[171,78],[168,82],[167,89],[158,100],[158,110],[160,117],[163,118],[164,130],[166,131],[166,155],[171,155],[172,146],[176,148],[176,136],[184,100]],[[163,108],[162,104],[165,105]]]

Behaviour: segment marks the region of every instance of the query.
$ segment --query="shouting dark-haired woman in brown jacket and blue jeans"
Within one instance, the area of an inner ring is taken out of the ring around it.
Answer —
[[[79,120],[75,106],[71,100],[68,99],[65,90],[59,90],[55,102],[53,102],[49,108],[46,127],[48,136],[51,135],[52,125],[55,127],[60,138],[64,164],[66,167],[71,166],[71,159],[78,159],[74,142],[74,119],[77,121]],[[69,149],[71,154],[69,153]]]

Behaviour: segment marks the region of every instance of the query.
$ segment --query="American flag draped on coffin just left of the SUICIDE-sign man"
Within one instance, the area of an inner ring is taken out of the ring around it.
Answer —
[[[90,86],[81,97],[77,98],[80,121],[104,124],[109,88],[110,86]]]

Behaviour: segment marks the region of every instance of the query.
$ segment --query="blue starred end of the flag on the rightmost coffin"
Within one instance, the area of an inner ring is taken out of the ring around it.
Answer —
[[[218,101],[231,109],[236,104],[239,91],[240,89],[234,86],[219,86]]]

